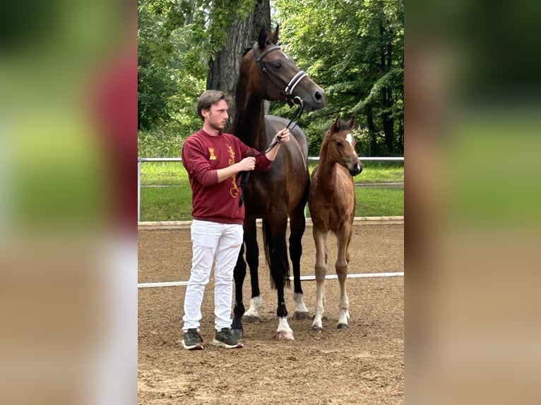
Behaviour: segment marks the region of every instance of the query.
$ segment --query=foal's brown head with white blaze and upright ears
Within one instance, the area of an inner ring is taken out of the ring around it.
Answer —
[[[351,135],[351,129],[355,123],[355,118],[343,122],[340,116],[334,121],[331,128],[325,133],[321,150],[326,151],[327,159],[338,163],[350,171],[352,176],[356,176],[362,171],[362,163],[355,152],[355,138]]]

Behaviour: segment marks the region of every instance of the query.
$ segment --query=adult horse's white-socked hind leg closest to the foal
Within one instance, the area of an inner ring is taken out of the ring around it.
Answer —
[[[290,257],[293,265],[293,299],[295,300],[293,319],[296,320],[310,317],[308,308],[304,305],[304,294],[301,288],[302,235],[306,228],[305,205],[303,203],[297,205],[290,214]]]

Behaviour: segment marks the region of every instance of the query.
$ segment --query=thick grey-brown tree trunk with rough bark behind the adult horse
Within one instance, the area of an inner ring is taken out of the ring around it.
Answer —
[[[259,30],[271,31],[271,5],[269,0],[258,0],[249,16],[235,22],[227,30],[225,46],[209,61],[206,88],[222,90],[232,97],[237,87],[240,61],[244,49],[251,48],[256,42]],[[234,102],[230,105],[230,122],[234,119]],[[227,128],[226,128],[227,129]]]

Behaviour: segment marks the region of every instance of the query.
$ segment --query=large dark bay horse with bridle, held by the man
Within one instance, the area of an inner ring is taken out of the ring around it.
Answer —
[[[275,133],[287,126],[288,121],[276,116],[265,116],[264,100],[283,100],[290,104],[303,104],[304,109],[313,111],[323,107],[326,95],[304,71],[299,71],[295,62],[284,54],[278,42],[278,26],[272,37],[261,30],[258,40],[244,54],[240,66],[235,94],[235,115],[232,133],[246,145],[264,150]],[[300,128],[291,131],[290,142],[283,143],[271,169],[265,172],[250,172],[249,181],[243,188],[246,204],[244,220],[244,245],[246,262],[251,276],[251,306],[244,320],[258,319],[261,294],[258,286],[258,243],[256,240],[256,218],[263,219],[263,242],[266,261],[271,269],[271,284],[278,293],[277,339],[293,339],[287,324],[284,287],[289,285],[290,265],[287,258],[287,217],[290,218],[289,250],[294,275],[295,318],[308,317],[304,306],[300,284],[301,239],[304,234],[304,207],[308,200],[309,171],[307,166],[307,140]],[[244,245],[234,269],[235,304],[232,333],[242,337],[242,284],[246,277]]]

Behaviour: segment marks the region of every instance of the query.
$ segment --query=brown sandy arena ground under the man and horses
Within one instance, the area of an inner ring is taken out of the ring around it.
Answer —
[[[261,229],[258,229],[260,248]],[[264,263],[263,250],[260,262]],[[302,275],[314,274],[311,226],[303,238]],[[335,274],[336,246],[328,237],[329,269]],[[403,272],[403,224],[356,222],[349,273]],[[189,229],[140,229],[138,281],[189,279]],[[185,286],[138,291],[138,403],[150,404],[403,404],[404,278],[347,279],[350,327],[338,321],[338,280],[326,280],[323,332],[311,320],[290,320],[295,340],[275,340],[276,294],[268,269],[260,267],[261,322],[244,323],[244,348],[210,344],[214,330],[213,276],[203,301],[203,351],[182,348]],[[244,304],[249,305],[249,275]],[[311,314],[316,282],[304,281],[304,302]],[[286,289],[292,315],[292,289]]]

